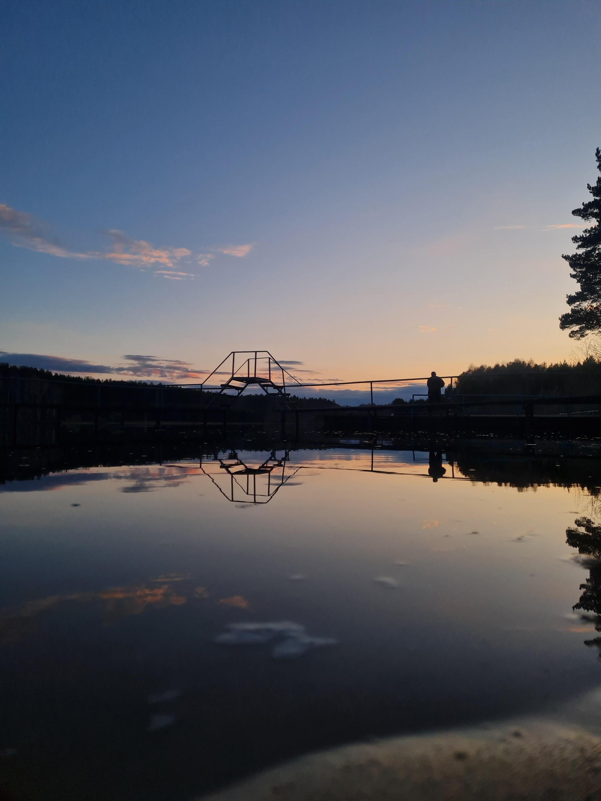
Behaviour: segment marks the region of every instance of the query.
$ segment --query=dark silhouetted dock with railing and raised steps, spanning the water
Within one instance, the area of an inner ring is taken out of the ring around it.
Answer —
[[[269,430],[281,442],[306,439],[312,433],[333,436],[357,432],[601,436],[601,392],[460,394],[458,376],[440,376],[447,388],[436,404],[422,400],[418,393],[407,401],[373,403],[374,386],[402,388],[426,382],[428,377],[306,383],[268,351],[231,352],[201,384],[2,376],[0,446],[55,445],[59,440],[82,436],[94,441],[115,440],[126,433],[132,437],[136,429],[145,437],[152,431],[155,436],[166,436],[186,429],[205,441],[217,433],[224,437],[230,429],[249,433]],[[216,379],[219,383],[212,383]],[[368,405],[341,406],[332,400],[316,401],[292,394],[360,385],[369,387]]]

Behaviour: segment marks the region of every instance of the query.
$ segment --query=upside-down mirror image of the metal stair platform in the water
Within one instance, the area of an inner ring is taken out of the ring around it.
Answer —
[[[289,459],[288,451],[284,452],[283,457],[277,457],[276,451],[273,450],[260,465],[250,467],[241,461],[235,451],[232,451],[227,458],[216,457],[215,461],[201,463],[200,469],[228,501],[265,504],[271,501],[278,489],[300,470],[300,466],[296,467],[286,475]],[[217,466],[217,472],[212,473],[209,465]],[[272,473],[275,473],[273,477]]]

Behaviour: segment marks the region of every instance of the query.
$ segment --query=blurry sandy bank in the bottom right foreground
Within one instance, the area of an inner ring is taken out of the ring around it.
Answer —
[[[204,801],[601,801],[599,713],[595,693],[555,719],[344,746],[264,771]]]

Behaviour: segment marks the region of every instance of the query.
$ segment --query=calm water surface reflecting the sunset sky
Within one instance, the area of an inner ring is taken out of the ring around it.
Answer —
[[[0,487],[6,797],[190,799],[601,683],[566,544],[586,489],[427,453],[296,451],[254,477],[268,453],[219,455]]]

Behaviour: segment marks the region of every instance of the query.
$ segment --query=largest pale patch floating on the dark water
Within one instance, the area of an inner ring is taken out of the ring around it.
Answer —
[[[218,634],[213,642],[226,646],[264,645],[281,638],[272,650],[274,659],[296,659],[312,648],[333,646],[337,640],[331,637],[311,637],[305,626],[288,620],[270,623],[231,623],[228,631]]]

